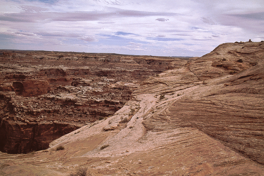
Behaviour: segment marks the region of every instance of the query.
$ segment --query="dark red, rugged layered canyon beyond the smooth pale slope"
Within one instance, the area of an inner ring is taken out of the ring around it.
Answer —
[[[0,151],[28,153],[113,115],[139,83],[188,59],[0,51]]]

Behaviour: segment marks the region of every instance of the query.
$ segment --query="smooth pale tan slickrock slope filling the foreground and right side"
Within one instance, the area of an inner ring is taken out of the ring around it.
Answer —
[[[221,44],[145,79],[113,116],[46,151],[1,153],[0,173],[70,175],[87,166],[98,176],[264,175],[263,54],[264,42]]]

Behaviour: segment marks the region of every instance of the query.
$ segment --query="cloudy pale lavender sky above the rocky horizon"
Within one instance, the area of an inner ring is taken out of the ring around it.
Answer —
[[[263,0],[0,0],[0,49],[201,57],[264,40]]]

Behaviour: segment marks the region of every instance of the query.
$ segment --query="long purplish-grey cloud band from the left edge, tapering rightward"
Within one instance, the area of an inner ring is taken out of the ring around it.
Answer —
[[[0,20],[11,22],[38,22],[43,20],[48,21],[94,21],[108,20],[121,17],[147,17],[147,16],[175,16],[177,13],[166,12],[147,12],[136,10],[123,10],[119,8],[107,8],[106,11],[75,11],[75,12],[42,12],[40,9],[37,12],[27,8],[24,11],[27,13],[5,13],[0,14]],[[44,8],[43,8],[44,9]],[[164,19],[164,18],[158,18]],[[166,20],[166,19],[164,19]]]

